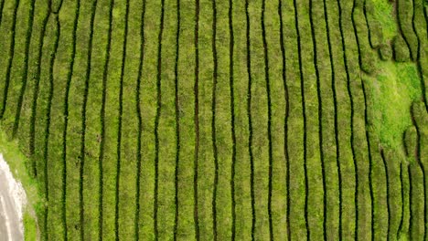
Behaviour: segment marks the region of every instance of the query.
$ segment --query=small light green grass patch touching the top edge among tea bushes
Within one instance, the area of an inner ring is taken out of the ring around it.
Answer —
[[[392,16],[393,6],[389,1],[372,0],[373,16],[382,26],[383,39],[392,39],[397,35],[397,23]]]

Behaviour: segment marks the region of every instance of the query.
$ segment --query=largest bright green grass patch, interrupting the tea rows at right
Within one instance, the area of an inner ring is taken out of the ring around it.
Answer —
[[[380,62],[376,79],[368,79],[369,118],[385,147],[402,152],[402,133],[412,126],[412,101],[421,98],[420,79],[412,63]]]

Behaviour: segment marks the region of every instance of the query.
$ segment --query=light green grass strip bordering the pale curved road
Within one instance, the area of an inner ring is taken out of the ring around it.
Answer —
[[[37,194],[37,183],[28,172],[28,158],[19,150],[16,140],[10,141],[5,131],[2,131],[0,124],[0,153],[5,157],[5,161],[14,174],[14,177],[22,183],[27,194],[27,206],[24,213],[25,240],[37,240],[38,228],[35,210],[41,199]]]

